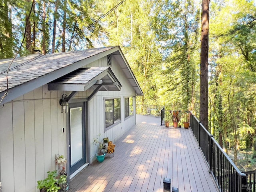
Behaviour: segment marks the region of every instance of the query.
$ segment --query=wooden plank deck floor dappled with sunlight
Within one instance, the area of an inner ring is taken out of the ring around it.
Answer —
[[[219,191],[190,129],[141,123],[114,144],[114,157],[88,166],[69,192],[163,192],[164,177],[179,192]]]

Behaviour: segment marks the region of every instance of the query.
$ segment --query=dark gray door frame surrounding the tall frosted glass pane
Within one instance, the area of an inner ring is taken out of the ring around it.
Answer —
[[[83,116],[83,126],[84,126],[84,131],[85,131],[85,156],[86,156],[86,163],[84,165],[82,165],[82,167],[86,167],[89,164],[89,160],[90,160],[90,136],[89,136],[89,124],[88,124],[88,102],[81,102],[81,100],[79,102],[76,102],[76,100],[72,100],[72,102],[69,102],[69,104],[72,106],[72,108],[74,107],[79,107],[82,106],[84,108],[84,113],[82,114]],[[66,147],[67,147],[67,163],[66,163],[66,171],[68,173],[68,177],[67,180],[68,182],[70,182],[70,108],[68,109],[68,113],[66,113],[66,130],[67,130],[67,134],[66,134]],[[81,168],[82,168],[81,167]],[[76,174],[78,174],[81,170],[80,168],[78,168],[78,172]],[[74,176],[72,176],[73,178]]]

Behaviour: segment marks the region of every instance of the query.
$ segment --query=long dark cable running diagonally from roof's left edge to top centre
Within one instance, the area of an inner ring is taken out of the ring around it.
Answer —
[[[88,25],[86,28],[84,28],[82,31],[78,32],[77,34],[75,34],[72,38],[66,40],[65,42],[62,42],[58,45],[55,46],[55,49],[59,48],[60,46],[62,46],[62,44],[66,44],[67,42],[71,41],[72,39],[76,38],[78,35],[82,34],[84,31],[86,31],[88,28],[90,28],[91,26],[93,26],[94,24],[98,23],[100,20],[102,20],[103,18],[105,18],[106,16],[108,16],[108,14],[110,14],[111,12],[113,12],[116,8],[118,8],[121,4],[123,4],[126,0],[122,0],[120,3],[118,3],[116,6],[114,6],[112,9],[110,9],[108,12],[106,12],[104,15],[102,15],[100,18],[98,18],[97,20],[95,20],[94,22],[92,22],[92,24]],[[53,48],[52,48],[53,49]],[[49,49],[46,51],[46,54],[48,53],[51,53],[52,52],[52,49]],[[29,62],[32,62],[40,57],[44,56],[44,54],[40,54],[39,56],[35,57],[35,58],[32,58],[31,60],[28,60],[22,64],[19,64],[13,68],[10,68],[10,70],[13,70],[13,69],[16,69],[20,66],[23,66],[25,64],[28,64]],[[3,74],[5,72],[8,72],[9,71],[9,68],[7,71],[4,71],[4,72],[0,72],[0,74]],[[1,102],[0,102],[1,103]]]

